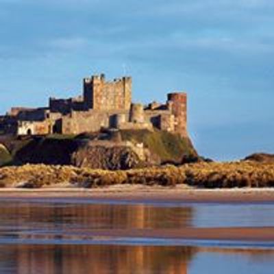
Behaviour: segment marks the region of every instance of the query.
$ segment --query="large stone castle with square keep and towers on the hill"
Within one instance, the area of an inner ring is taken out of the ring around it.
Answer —
[[[132,77],[108,82],[103,74],[84,78],[83,88],[79,97],[50,98],[46,108],[12,108],[0,116],[0,131],[24,136],[157,128],[188,135],[184,92],[169,93],[164,104],[132,103]]]

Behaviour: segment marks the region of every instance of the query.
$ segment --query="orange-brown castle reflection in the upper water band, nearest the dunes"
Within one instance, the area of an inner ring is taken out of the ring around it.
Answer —
[[[1,229],[121,229],[188,227],[192,208],[144,205],[0,204]]]

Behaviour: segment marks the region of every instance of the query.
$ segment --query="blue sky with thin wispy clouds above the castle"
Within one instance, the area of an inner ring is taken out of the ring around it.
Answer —
[[[132,75],[136,102],[188,92],[214,160],[274,153],[273,0],[0,0],[0,113]]]

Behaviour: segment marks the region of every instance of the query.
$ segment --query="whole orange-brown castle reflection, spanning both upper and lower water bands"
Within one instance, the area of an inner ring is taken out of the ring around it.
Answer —
[[[1,205],[0,238],[18,245],[0,247],[5,273],[187,273],[190,247],[49,245],[47,240],[83,240],[92,229],[149,229],[190,226],[192,209],[143,205],[18,203]],[[73,232],[73,233],[72,233]],[[20,245],[26,239],[45,245]],[[4,252],[5,250],[5,252]]]

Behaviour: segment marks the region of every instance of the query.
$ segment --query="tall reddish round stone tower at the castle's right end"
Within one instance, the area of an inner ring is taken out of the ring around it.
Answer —
[[[175,116],[175,132],[182,137],[188,136],[187,100],[185,92],[173,92],[168,95],[168,101],[171,102],[169,104],[171,112]]]

